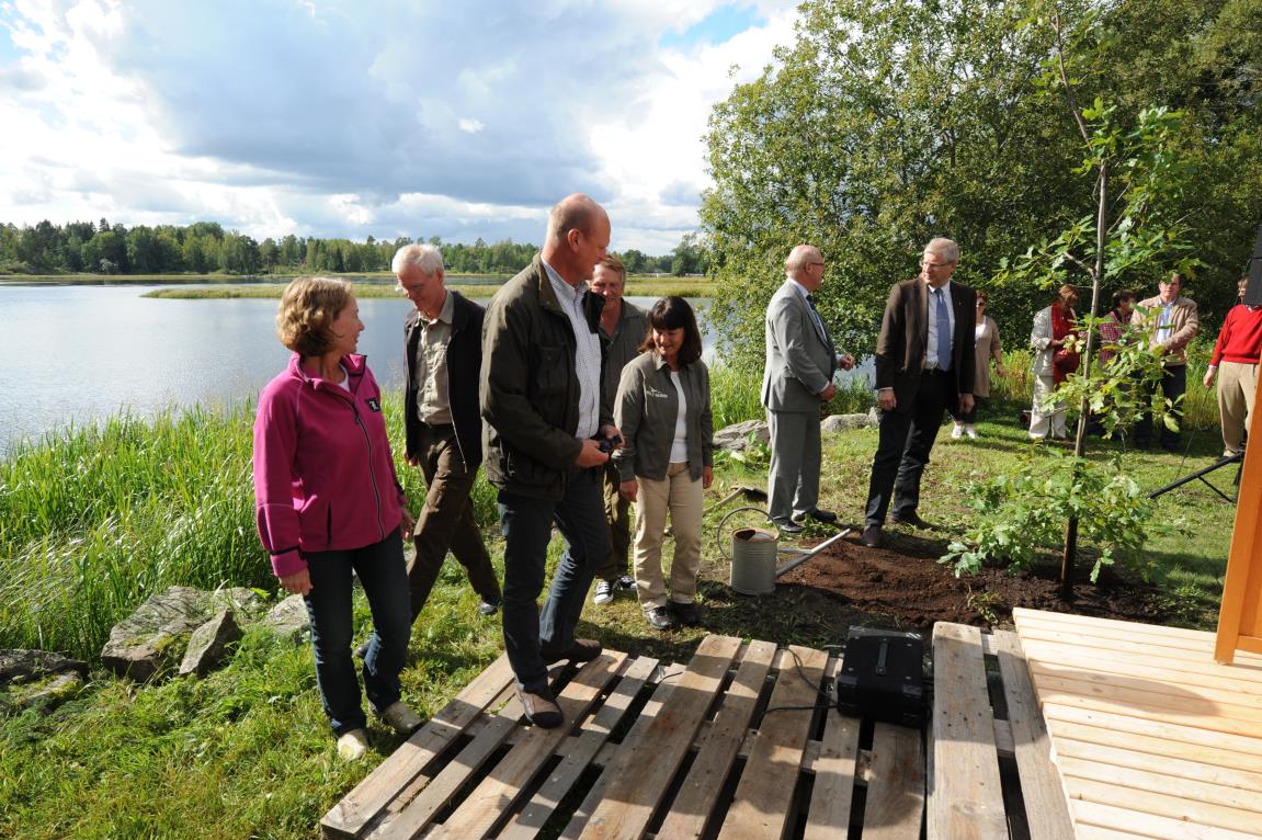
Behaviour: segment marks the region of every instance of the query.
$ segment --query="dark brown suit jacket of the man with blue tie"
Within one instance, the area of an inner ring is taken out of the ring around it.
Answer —
[[[952,334],[950,375],[954,392],[973,394],[977,377],[977,349],[973,327],[977,324],[977,293],[959,283],[950,284],[950,303],[955,315]],[[919,276],[896,283],[890,289],[876,343],[876,387],[893,388],[895,411],[910,411],[920,388],[929,344],[929,291]],[[957,409],[958,406],[948,406]]]

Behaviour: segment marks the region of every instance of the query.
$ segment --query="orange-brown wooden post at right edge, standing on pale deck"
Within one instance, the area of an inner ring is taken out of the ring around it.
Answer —
[[[1254,406],[1262,404],[1254,401]],[[1262,411],[1254,407],[1249,417],[1253,445],[1244,452],[1232,551],[1227,557],[1227,580],[1218,610],[1214,660],[1224,663],[1235,658],[1235,651],[1262,653],[1262,609],[1258,605],[1262,600],[1262,421],[1258,415]]]

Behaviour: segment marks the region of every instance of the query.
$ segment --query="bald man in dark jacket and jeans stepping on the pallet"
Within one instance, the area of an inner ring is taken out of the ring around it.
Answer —
[[[587,280],[610,245],[610,217],[587,195],[548,217],[544,247],[486,310],[480,397],[486,475],[500,491],[504,534],[504,646],[526,718],[564,721],[548,666],[587,662],[599,642],[574,638],[593,571],[610,555],[601,473],[618,436],[602,397],[604,299]],[[548,542],[555,522],[565,551],[543,612]]]

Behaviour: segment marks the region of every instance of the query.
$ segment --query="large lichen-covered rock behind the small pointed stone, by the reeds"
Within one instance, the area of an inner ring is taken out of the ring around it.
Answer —
[[[145,681],[183,656],[189,633],[215,613],[232,608],[245,617],[262,612],[264,600],[251,589],[206,592],[172,586],[150,597],[110,631],[101,648],[101,665],[120,676]]]

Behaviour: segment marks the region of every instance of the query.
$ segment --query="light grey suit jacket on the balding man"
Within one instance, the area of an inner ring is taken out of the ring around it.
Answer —
[[[837,351],[793,280],[786,279],[767,304],[766,341],[762,405],[772,411],[819,411],[819,392],[837,371]]]

